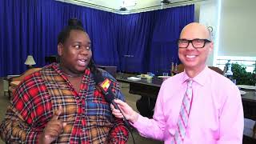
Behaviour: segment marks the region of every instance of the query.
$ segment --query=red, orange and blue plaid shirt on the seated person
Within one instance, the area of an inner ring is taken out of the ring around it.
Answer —
[[[111,88],[116,98],[124,100],[118,82],[104,70],[102,75],[114,83]],[[85,70],[77,93],[56,63],[27,76],[15,90],[0,125],[2,139],[37,143],[58,106],[62,106],[58,119],[67,125],[55,143],[125,143],[128,139],[126,126],[111,114],[90,70]]]

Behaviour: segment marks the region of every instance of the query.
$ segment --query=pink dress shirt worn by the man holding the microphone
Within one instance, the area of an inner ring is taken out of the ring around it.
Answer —
[[[142,136],[170,144],[188,78],[182,72],[162,83],[153,119],[139,115],[132,124]],[[244,118],[238,87],[207,66],[193,80],[193,101],[183,144],[241,144]]]

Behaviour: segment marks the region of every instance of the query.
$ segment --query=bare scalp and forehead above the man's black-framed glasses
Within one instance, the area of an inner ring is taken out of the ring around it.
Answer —
[[[210,38],[210,30],[206,28],[206,26],[203,26],[202,24],[198,22],[192,22],[188,25],[186,25],[180,34],[180,38],[185,39],[194,39],[194,38],[201,38],[201,39],[209,39]],[[188,38],[190,37],[190,38]]]

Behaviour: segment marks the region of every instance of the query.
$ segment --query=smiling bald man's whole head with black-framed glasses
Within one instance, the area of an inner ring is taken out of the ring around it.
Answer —
[[[210,31],[206,26],[193,22],[183,28],[180,39],[184,43],[178,42],[178,58],[184,64],[186,74],[194,78],[204,70],[208,55],[214,49],[214,43],[207,41],[210,40]]]

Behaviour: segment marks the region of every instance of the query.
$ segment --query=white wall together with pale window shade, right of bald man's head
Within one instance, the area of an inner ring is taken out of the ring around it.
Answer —
[[[208,59],[209,66],[219,56],[256,58],[255,6],[255,0],[201,2],[199,22],[214,28],[214,54]]]

